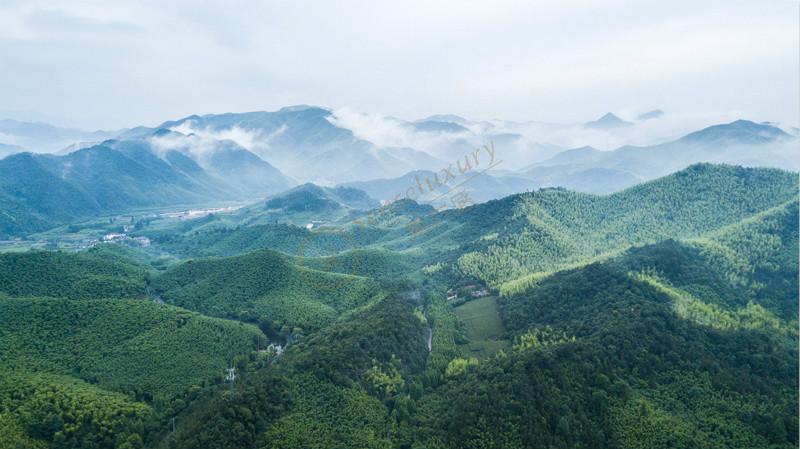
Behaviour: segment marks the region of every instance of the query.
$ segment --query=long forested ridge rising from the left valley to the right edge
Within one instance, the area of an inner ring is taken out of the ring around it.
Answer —
[[[629,245],[698,237],[791,201],[797,188],[790,172],[698,164],[606,196],[541,189],[441,213],[402,200],[318,233],[275,224],[220,225],[160,232],[154,244],[182,256],[385,248],[499,287]],[[237,223],[247,222],[249,212],[242,214]]]

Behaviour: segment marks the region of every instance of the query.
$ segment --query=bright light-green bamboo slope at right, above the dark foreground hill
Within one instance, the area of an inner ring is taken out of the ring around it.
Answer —
[[[560,189],[523,194],[501,200],[513,202],[506,214],[513,232],[467,252],[458,265],[499,285],[629,245],[698,237],[793,200],[797,190],[797,176],[788,172],[701,164],[609,196]]]

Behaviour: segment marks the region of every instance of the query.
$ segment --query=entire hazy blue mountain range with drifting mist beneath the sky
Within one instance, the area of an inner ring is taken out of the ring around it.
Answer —
[[[578,128],[618,136],[664,116],[656,110],[628,122],[609,113]],[[292,106],[89,133],[5,120],[0,137],[64,151],[17,153],[0,161],[0,202],[9,211],[0,216],[0,235],[25,235],[100,211],[266,198],[303,182],[355,187],[388,201],[417,179],[444,177],[487,141],[497,148],[496,168],[436,186],[417,200],[434,201],[456,187],[472,202],[542,187],[606,194],[695,162],[800,168],[792,153],[796,136],[746,120],[656,145],[561,151],[533,140],[530,130],[573,129],[567,125],[475,122],[453,115],[417,121],[373,117],[379,121],[367,125],[359,122],[363,119]],[[90,143],[93,139],[100,141]],[[529,160],[535,162],[521,164]]]

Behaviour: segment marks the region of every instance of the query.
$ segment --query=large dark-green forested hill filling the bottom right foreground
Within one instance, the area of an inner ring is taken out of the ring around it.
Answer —
[[[796,446],[795,315],[740,305],[752,298],[729,298],[734,285],[707,262],[667,242],[504,298],[513,349],[423,398],[410,438],[453,448]],[[781,298],[797,301],[796,290]]]

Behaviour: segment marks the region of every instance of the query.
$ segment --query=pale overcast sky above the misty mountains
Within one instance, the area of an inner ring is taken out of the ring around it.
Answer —
[[[796,1],[0,0],[0,118],[84,129],[293,104],[797,125]]]

